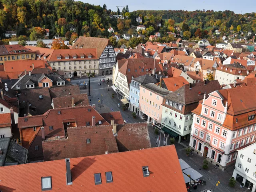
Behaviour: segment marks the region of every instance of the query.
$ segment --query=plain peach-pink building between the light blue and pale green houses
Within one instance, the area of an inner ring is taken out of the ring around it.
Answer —
[[[161,124],[163,97],[170,92],[154,83],[140,86],[140,114],[148,123]]]

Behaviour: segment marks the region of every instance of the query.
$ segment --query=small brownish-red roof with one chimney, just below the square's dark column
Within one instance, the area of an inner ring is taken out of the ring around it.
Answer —
[[[53,101],[54,108],[72,107],[72,98],[74,98],[75,107],[90,105],[87,94],[77,94],[77,95],[53,98],[52,101]]]

